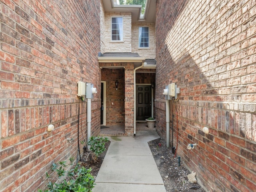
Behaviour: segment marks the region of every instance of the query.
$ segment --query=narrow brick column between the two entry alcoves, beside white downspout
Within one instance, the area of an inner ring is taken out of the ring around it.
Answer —
[[[125,122],[124,132],[127,135],[133,135],[134,131],[134,68],[132,63],[128,63],[124,69],[124,111]]]

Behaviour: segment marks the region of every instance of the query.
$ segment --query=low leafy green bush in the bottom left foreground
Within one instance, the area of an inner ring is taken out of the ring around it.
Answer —
[[[51,170],[56,172],[56,178],[50,178],[46,172],[46,177],[49,180],[48,189],[38,190],[38,192],[91,192],[95,182],[94,177],[90,174],[91,168],[86,169],[76,165],[74,169],[66,171],[64,167],[66,167],[65,161],[52,164]],[[66,174],[66,179],[60,182],[59,179]],[[57,182],[52,183],[52,180],[57,180]]]

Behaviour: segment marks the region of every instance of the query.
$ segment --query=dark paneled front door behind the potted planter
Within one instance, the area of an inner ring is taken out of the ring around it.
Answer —
[[[151,116],[151,86],[136,85],[136,120],[145,120]]]

